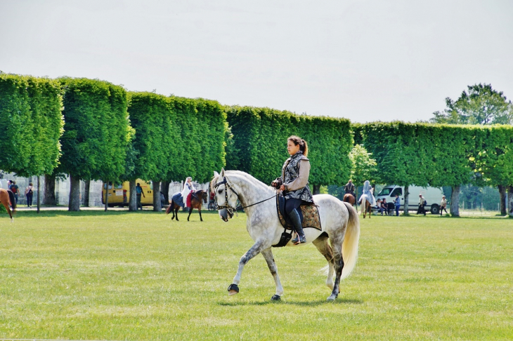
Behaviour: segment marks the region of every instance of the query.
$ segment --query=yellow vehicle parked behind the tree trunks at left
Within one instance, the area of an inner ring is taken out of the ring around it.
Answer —
[[[136,183],[140,183],[141,187],[143,187],[144,195],[141,198],[141,203],[143,206],[153,206],[153,184],[152,182],[148,183],[144,180],[137,179]],[[105,182],[103,182],[101,203],[105,205],[105,190],[108,193],[109,200],[108,206],[128,206],[130,201],[130,183],[128,181],[119,183],[115,182],[114,186],[112,186],[112,182],[109,182],[108,189]],[[161,196],[162,199],[162,196]]]

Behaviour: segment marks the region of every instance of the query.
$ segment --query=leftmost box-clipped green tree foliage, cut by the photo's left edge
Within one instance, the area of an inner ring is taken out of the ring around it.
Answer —
[[[21,176],[58,165],[63,109],[57,81],[0,73],[0,169]]]

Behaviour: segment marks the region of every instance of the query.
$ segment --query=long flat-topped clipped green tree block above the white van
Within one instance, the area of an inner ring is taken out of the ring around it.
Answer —
[[[451,186],[455,215],[460,185],[513,182],[512,126],[374,122],[358,125],[355,133],[377,160],[382,182]]]

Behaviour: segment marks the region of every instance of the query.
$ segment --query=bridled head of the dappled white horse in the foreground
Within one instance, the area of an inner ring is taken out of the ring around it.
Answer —
[[[224,168],[221,173],[214,172],[214,178],[210,182],[210,190],[213,191],[214,200],[216,202],[216,209],[219,211],[219,216],[224,222],[228,222],[233,218],[233,211],[237,206],[238,194],[233,187],[230,186],[228,178],[226,178]]]

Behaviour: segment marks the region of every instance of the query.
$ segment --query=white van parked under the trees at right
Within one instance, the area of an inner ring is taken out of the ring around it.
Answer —
[[[419,208],[419,194],[422,194],[427,201],[427,205],[425,206],[426,210],[429,210],[432,214],[440,213],[440,202],[443,196],[441,187],[409,186],[408,192],[408,210],[417,210],[417,208]],[[399,209],[404,210],[404,187],[387,185],[377,194],[376,200],[387,199],[389,208],[392,208],[394,206],[394,200],[396,200],[396,194],[399,194],[399,198],[401,198],[401,208]]]

